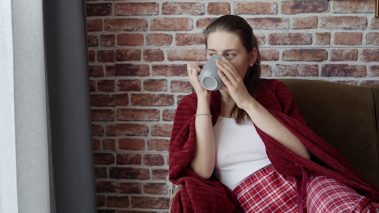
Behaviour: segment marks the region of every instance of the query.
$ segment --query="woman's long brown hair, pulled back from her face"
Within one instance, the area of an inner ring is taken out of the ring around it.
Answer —
[[[250,53],[254,47],[257,49],[257,60],[255,60],[253,66],[249,66],[247,68],[247,72],[243,80],[243,83],[246,86],[249,94],[254,98],[257,97],[258,83],[261,81],[261,55],[258,49],[257,38],[255,38],[253,30],[249,23],[247,23],[247,21],[240,16],[226,15],[219,17],[210,23],[210,25],[208,25],[208,27],[204,30],[205,46],[207,48],[208,36],[213,32],[227,32],[235,34],[238,36],[238,38],[240,38],[242,45],[245,47],[248,53]],[[246,111],[238,108],[236,103],[234,104],[232,110],[230,110],[230,117],[233,117],[233,115],[235,115],[237,124],[243,124],[246,121],[251,121],[251,118],[248,116]]]

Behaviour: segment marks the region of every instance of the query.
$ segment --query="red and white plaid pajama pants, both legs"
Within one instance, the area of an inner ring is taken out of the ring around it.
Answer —
[[[246,213],[298,211],[295,182],[271,166],[250,175],[233,192]],[[379,213],[379,204],[368,202],[349,186],[326,176],[309,177],[307,197],[302,199],[302,205],[305,213]]]

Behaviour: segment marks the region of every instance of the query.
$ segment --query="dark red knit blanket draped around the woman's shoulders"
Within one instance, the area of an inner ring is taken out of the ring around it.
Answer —
[[[368,183],[341,153],[307,127],[284,83],[264,79],[256,100],[321,160],[317,164],[301,157],[254,125],[266,146],[269,160],[280,174],[299,177],[302,166],[309,175],[326,175],[351,186],[371,202],[379,200],[379,190]],[[235,194],[226,185],[217,180],[204,180],[189,168],[194,157],[196,110],[197,96],[193,93],[183,97],[175,113],[169,145],[169,180],[175,185],[181,184],[182,188],[172,200],[171,212],[242,212]],[[210,110],[215,125],[221,113],[218,91],[211,94]]]

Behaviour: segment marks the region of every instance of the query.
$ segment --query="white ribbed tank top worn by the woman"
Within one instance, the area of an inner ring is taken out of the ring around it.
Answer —
[[[216,145],[213,175],[230,190],[271,164],[265,144],[252,123],[237,125],[234,118],[219,116],[213,135]]]

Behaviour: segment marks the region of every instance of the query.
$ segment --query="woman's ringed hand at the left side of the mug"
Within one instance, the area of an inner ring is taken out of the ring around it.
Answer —
[[[195,89],[195,92],[197,94],[197,98],[209,98],[211,96],[212,91],[209,91],[205,89],[199,80],[199,74],[201,72],[200,66],[204,65],[204,63],[195,62],[191,64],[187,64],[187,71],[188,71],[188,79],[193,88]],[[192,71],[189,72],[189,71]]]

